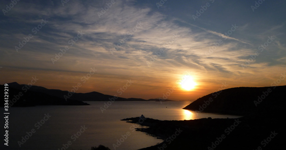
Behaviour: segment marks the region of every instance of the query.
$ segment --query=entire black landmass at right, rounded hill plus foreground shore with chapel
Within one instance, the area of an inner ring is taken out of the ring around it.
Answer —
[[[158,145],[140,150],[285,149],[285,91],[286,86],[225,89],[201,97],[184,108],[243,115],[237,119],[161,121],[134,117],[122,120],[148,126],[137,131],[164,139]],[[213,100],[208,104],[210,98]]]

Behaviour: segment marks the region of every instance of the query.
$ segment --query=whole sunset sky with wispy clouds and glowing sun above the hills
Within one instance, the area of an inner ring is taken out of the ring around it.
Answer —
[[[271,86],[286,72],[286,1],[257,2],[21,0],[9,8],[4,0],[0,84],[34,77],[48,89],[80,83],[77,93],[143,99],[173,91],[172,100],[222,85]],[[190,80],[193,88],[182,89]]]

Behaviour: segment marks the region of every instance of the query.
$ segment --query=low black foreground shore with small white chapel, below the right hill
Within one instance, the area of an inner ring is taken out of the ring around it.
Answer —
[[[284,147],[285,117],[282,111],[250,114],[235,119],[202,118],[194,120],[157,120],[140,117],[121,119],[128,123],[139,123],[148,128],[136,128],[136,131],[154,135],[164,141],[139,150],[168,149],[257,149],[261,141],[269,134],[279,133],[275,140],[263,149]],[[276,114],[275,117],[273,115]],[[282,134],[281,134],[282,133]],[[190,146],[191,145],[191,146]],[[234,146],[235,145],[235,146]]]

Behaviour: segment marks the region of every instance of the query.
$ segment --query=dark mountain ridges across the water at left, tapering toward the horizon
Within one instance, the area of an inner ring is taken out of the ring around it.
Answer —
[[[34,106],[34,105],[89,105],[82,101],[110,101],[112,95],[99,92],[71,93],[58,89],[47,89],[35,85],[20,85],[17,82],[8,83],[10,106]],[[4,89],[4,85],[0,85]],[[19,94],[21,93],[21,94]],[[1,92],[0,95],[4,93]],[[3,95],[4,97],[4,95]],[[140,99],[117,97],[115,101],[171,101],[168,99]],[[1,104],[3,105],[3,104]]]

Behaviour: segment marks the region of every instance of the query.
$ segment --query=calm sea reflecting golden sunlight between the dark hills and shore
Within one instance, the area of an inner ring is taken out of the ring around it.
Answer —
[[[4,149],[90,150],[104,145],[111,150],[137,150],[163,140],[134,129],[146,126],[120,119],[141,115],[158,120],[241,117],[182,109],[190,101],[85,102],[90,105],[9,108],[9,146],[4,145]]]

